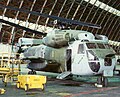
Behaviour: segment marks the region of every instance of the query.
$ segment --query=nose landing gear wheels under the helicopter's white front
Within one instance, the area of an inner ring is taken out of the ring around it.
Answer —
[[[108,79],[104,76],[98,77],[96,86],[97,87],[107,87],[108,86]]]

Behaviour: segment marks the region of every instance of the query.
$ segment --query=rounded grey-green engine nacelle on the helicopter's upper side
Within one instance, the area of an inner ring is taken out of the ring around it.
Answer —
[[[70,33],[65,33],[63,31],[54,30],[48,33],[46,37],[43,38],[43,44],[51,47],[62,47],[68,45],[70,39]]]

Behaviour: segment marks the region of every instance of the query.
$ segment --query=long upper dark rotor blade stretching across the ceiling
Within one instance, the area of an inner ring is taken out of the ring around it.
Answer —
[[[20,11],[20,12],[30,13],[30,14],[33,14],[33,15],[38,15],[38,16],[43,16],[43,17],[46,17],[46,18],[59,20],[59,21],[62,21],[64,23],[68,23],[68,24],[83,25],[83,26],[88,26],[88,27],[92,27],[92,28],[101,29],[101,27],[99,25],[95,25],[95,24],[84,23],[84,22],[77,21],[77,20],[65,19],[65,18],[62,18],[62,17],[57,17],[57,16],[53,16],[53,15],[48,15],[48,14],[35,12],[35,11],[29,11],[29,10],[14,8],[14,7],[11,7],[11,6],[4,6],[4,5],[1,5],[1,4],[0,4],[0,6],[4,7],[4,8],[11,9],[11,10],[16,10],[16,11]]]

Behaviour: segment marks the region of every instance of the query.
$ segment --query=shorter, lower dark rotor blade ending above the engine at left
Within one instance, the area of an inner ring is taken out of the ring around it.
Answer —
[[[42,33],[42,32],[39,32],[39,31],[35,31],[35,30],[32,30],[32,29],[26,28],[24,26],[20,26],[18,24],[15,24],[15,23],[3,20],[3,19],[0,19],[0,22],[11,25],[11,26],[14,26],[14,27],[17,27],[17,28],[20,28],[20,29],[23,29],[25,31],[30,31],[30,32],[35,33],[35,34],[40,34],[40,35],[43,35],[43,36],[45,36],[47,34],[47,33]]]

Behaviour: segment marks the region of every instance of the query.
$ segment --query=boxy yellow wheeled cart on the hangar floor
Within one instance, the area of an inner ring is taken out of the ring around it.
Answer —
[[[17,88],[23,88],[25,91],[29,89],[40,88],[45,89],[46,76],[41,75],[18,75]]]

